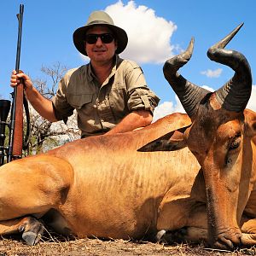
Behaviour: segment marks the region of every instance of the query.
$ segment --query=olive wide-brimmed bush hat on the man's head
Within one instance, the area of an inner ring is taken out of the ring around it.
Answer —
[[[117,40],[118,47],[116,49],[116,54],[121,53],[127,43],[128,37],[124,29],[119,26],[114,26],[112,18],[104,11],[92,12],[84,26],[79,27],[75,32],[73,32],[73,44],[83,55],[87,55],[84,47],[84,38],[86,31],[92,26],[108,26],[113,32],[114,38]]]

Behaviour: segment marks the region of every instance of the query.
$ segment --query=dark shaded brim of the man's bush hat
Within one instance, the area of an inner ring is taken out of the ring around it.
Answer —
[[[85,33],[88,29],[90,29],[90,27],[96,26],[96,25],[97,26],[108,26],[111,29],[111,31],[114,34],[114,38],[118,42],[118,47],[115,51],[116,54],[120,54],[122,51],[124,51],[124,49],[126,48],[126,45],[128,43],[128,37],[127,37],[125,30],[120,28],[119,26],[100,23],[100,24],[81,26],[77,30],[75,30],[75,32],[73,32],[73,44],[75,45],[76,49],[78,49],[82,55],[87,56],[87,53],[85,51],[85,45],[84,45]]]

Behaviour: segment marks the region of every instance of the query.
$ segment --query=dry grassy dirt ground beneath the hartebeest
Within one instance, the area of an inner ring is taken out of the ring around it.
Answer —
[[[225,250],[213,250],[195,244],[173,244],[163,245],[151,242],[135,241],[102,241],[99,239],[68,239],[60,241],[59,238],[51,236],[40,241],[36,246],[29,247],[20,239],[0,238],[0,256],[45,256],[45,255],[93,255],[93,256],[131,256],[131,255],[150,255],[150,256],[200,256],[200,255],[221,255],[221,256],[241,256],[256,255],[256,248],[238,249],[234,252]]]

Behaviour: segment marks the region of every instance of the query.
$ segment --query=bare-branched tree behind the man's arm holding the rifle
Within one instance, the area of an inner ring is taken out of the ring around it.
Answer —
[[[43,96],[51,99],[55,95],[59,81],[67,72],[67,67],[57,62],[52,67],[42,67],[41,71],[45,79],[33,79],[33,84]],[[67,125],[63,121],[51,123],[30,106],[30,119],[31,137],[27,154],[38,154],[79,138],[76,113],[68,119]]]

